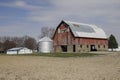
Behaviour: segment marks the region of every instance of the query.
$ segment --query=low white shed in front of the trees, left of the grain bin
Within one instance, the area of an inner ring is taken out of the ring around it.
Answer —
[[[31,54],[32,50],[26,47],[17,47],[7,50],[7,54]]]

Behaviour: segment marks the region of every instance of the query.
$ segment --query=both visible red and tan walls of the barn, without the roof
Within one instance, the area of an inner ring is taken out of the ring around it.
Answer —
[[[95,46],[97,51],[108,50],[107,39],[75,38],[72,31],[65,24],[59,25],[54,35],[55,52],[63,52],[61,46],[67,46],[67,52],[89,52],[92,45]]]

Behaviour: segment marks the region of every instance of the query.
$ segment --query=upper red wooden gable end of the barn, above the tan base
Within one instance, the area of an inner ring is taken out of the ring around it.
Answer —
[[[75,43],[75,39],[70,29],[65,24],[61,24],[56,30],[54,36],[54,45],[71,45]]]

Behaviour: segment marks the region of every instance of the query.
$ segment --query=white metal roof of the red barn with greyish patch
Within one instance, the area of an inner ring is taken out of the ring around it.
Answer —
[[[69,25],[75,37],[107,38],[105,32],[95,25],[71,21],[64,22]]]

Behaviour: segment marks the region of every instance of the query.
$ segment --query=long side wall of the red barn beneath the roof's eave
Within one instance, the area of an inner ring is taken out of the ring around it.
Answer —
[[[76,38],[77,52],[89,52],[91,45],[94,45],[97,51],[108,50],[107,39]]]

